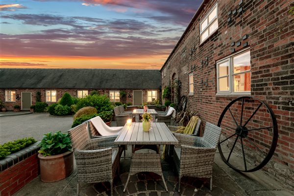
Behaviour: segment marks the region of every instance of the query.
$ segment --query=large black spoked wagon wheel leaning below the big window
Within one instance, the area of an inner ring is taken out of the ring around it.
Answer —
[[[253,97],[236,98],[222,111],[218,126],[222,128],[219,152],[229,167],[254,172],[270,161],[277,145],[278,128],[268,104]],[[234,161],[233,156],[243,157],[243,164]]]

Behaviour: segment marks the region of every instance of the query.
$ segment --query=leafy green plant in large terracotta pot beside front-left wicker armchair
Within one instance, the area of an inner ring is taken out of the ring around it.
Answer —
[[[39,143],[40,173],[43,182],[62,180],[73,172],[73,151],[70,136],[57,131],[45,134]]]

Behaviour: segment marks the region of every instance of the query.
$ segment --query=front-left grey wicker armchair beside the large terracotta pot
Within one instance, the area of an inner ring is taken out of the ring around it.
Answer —
[[[69,131],[77,167],[77,195],[79,183],[110,182],[113,194],[113,177],[120,163],[120,149],[114,145],[115,136],[90,139],[87,123]]]

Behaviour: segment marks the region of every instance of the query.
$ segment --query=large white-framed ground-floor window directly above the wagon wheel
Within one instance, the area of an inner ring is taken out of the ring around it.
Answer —
[[[217,62],[218,94],[251,91],[250,51],[245,50]]]

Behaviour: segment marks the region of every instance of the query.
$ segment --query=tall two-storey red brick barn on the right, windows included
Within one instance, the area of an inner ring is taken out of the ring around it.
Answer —
[[[291,0],[204,0],[161,69],[162,89],[180,81],[180,96],[187,97],[187,108],[198,112],[202,130],[206,122],[217,124],[223,109],[235,98],[253,96],[268,103],[279,135],[263,170],[292,187],[294,15],[289,10],[293,6]],[[233,115],[240,114],[237,109],[232,110]],[[271,121],[269,115],[259,113],[252,127]],[[224,118],[232,120],[230,115]],[[269,146],[268,130],[254,133],[256,147]],[[233,142],[228,140],[228,146]],[[250,143],[245,146],[245,152],[252,150]],[[250,155],[246,160],[258,159]]]

